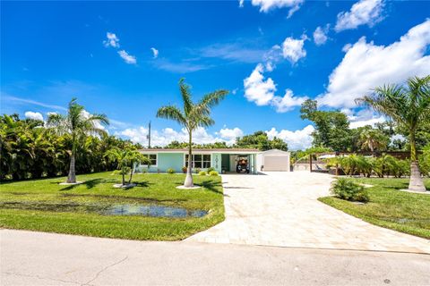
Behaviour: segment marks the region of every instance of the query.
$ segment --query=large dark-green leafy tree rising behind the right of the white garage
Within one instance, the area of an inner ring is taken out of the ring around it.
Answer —
[[[302,104],[300,113],[302,119],[314,122],[314,147],[329,147],[334,151],[348,151],[352,148],[347,115],[340,111],[318,110],[317,101],[312,99],[307,99]]]

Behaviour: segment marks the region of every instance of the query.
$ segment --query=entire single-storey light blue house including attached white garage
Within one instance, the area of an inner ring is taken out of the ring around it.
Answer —
[[[150,159],[150,165],[139,165],[136,172],[182,172],[188,165],[188,149],[153,148],[139,150]],[[193,148],[193,168],[206,171],[214,168],[219,173],[236,172],[237,164],[247,164],[250,173],[262,171],[289,171],[289,153],[280,150],[262,152],[246,148]],[[288,168],[287,168],[288,165]]]

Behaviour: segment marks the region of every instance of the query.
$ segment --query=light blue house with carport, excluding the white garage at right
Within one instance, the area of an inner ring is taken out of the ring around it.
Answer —
[[[141,149],[143,155],[150,159],[150,165],[139,165],[136,172],[166,172],[174,169],[183,172],[188,165],[188,150],[183,149]],[[236,165],[247,164],[250,173],[257,173],[258,149],[226,148],[226,149],[193,149],[193,169],[206,171],[214,168],[219,173],[236,172]]]

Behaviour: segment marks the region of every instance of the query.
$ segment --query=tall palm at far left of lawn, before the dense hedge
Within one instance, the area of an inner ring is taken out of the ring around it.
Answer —
[[[82,144],[88,135],[104,135],[103,125],[109,121],[105,114],[88,114],[82,105],[78,105],[73,98],[69,103],[67,114],[49,114],[47,127],[55,130],[60,135],[70,134],[72,138],[72,152],[70,155],[69,175],[67,183],[76,183],[75,156],[77,147]]]

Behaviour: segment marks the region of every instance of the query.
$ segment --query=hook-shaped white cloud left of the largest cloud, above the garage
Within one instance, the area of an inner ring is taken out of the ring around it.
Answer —
[[[251,75],[244,80],[245,97],[256,105],[271,105],[279,113],[285,113],[297,105],[301,105],[307,97],[295,97],[291,89],[286,89],[285,95],[275,95],[276,85],[271,78],[263,75],[262,63],[257,64]]]

